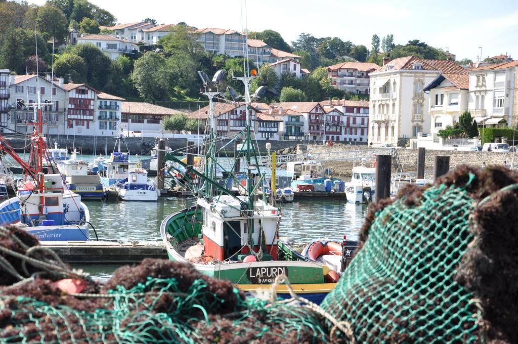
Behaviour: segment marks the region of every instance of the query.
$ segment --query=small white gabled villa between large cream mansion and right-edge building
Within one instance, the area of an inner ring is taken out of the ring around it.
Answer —
[[[468,74],[447,73],[440,74],[423,89],[430,97],[430,134],[437,137],[439,130],[458,122],[461,114],[468,110],[468,89]]]

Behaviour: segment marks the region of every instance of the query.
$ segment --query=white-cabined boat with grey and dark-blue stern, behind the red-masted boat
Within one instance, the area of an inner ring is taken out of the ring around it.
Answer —
[[[89,171],[87,161],[77,159],[76,150],[72,152],[70,159],[57,162],[56,165],[70,191],[80,194],[82,199],[103,198],[103,184],[99,175]]]

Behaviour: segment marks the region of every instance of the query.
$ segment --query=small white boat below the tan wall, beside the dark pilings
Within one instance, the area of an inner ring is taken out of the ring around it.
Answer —
[[[374,177],[376,168],[356,166],[352,170],[351,181],[346,183],[347,202],[371,202],[375,193]]]

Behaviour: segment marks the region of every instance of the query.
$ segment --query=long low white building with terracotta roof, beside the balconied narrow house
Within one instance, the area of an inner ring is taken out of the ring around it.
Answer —
[[[178,110],[141,102],[121,102],[120,128],[127,132],[162,132],[165,116],[182,113]]]

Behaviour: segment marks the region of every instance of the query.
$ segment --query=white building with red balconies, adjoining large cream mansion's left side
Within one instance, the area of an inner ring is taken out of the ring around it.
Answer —
[[[320,104],[327,109],[336,108],[343,113],[342,116],[342,141],[367,142],[369,128],[369,102],[368,101],[346,101],[338,99],[323,101]]]

